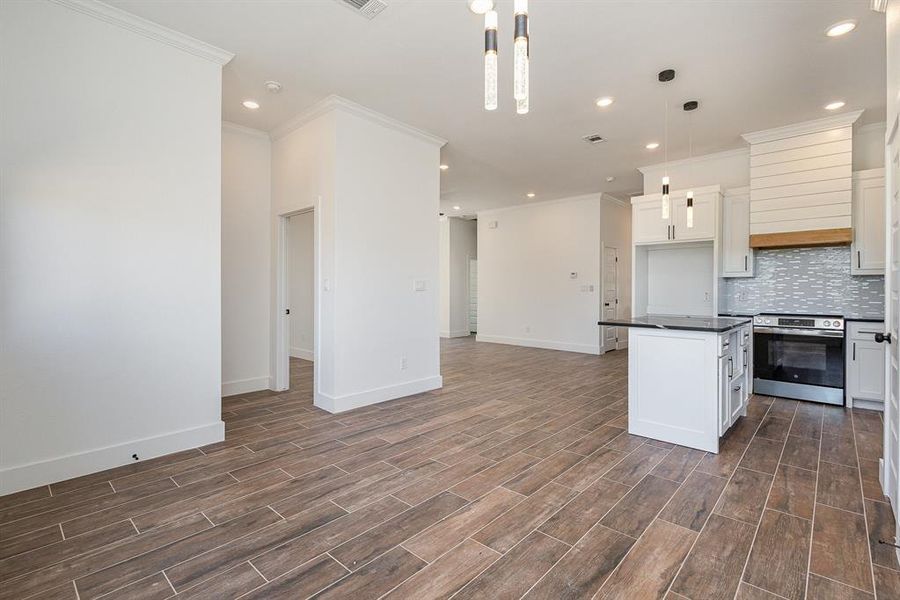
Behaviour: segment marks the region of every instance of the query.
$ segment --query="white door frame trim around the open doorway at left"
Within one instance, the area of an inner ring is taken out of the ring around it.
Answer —
[[[288,224],[290,218],[305,213],[313,213],[313,395],[319,394],[319,367],[321,365],[320,353],[322,345],[319,343],[321,326],[319,323],[319,306],[321,304],[322,286],[319,282],[321,271],[322,252],[321,222],[319,219],[319,205],[321,196],[316,197],[313,206],[292,210],[277,215],[275,226],[275,314],[274,333],[272,344],[273,382],[272,389],[283,392],[290,389],[291,378],[291,320],[287,310],[290,308],[289,275],[288,275],[288,243],[290,234]]]

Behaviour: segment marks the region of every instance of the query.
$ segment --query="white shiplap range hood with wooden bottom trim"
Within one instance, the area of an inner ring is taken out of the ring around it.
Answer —
[[[750,144],[750,246],[853,240],[853,123],[862,111],[745,133]]]

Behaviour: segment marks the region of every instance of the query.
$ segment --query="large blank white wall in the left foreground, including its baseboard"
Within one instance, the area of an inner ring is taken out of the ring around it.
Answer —
[[[227,54],[4,2],[0,55],[0,494],[223,439]]]

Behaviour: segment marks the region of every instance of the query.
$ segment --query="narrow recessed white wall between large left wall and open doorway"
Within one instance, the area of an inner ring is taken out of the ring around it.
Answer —
[[[271,144],[222,127],[222,395],[270,386]]]

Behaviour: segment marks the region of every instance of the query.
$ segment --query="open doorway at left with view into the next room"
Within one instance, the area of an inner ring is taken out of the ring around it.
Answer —
[[[319,366],[318,227],[314,208],[278,216],[273,387],[311,400]]]

